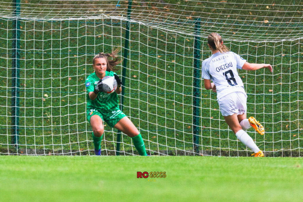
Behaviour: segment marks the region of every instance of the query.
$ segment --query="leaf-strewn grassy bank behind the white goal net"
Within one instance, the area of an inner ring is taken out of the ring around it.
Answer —
[[[265,127],[248,134],[267,156],[302,156],[302,13],[292,0],[1,1],[0,154],[92,155],[85,78],[95,54],[121,47],[119,99],[148,154],[250,155],[201,79],[218,32],[248,62],[273,66],[238,71],[247,116]],[[118,136],[105,124],[102,155],[137,154]]]

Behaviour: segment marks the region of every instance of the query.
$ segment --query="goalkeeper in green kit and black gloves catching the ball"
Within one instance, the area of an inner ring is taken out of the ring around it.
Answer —
[[[101,155],[101,140],[104,132],[104,121],[110,126],[127,134],[141,156],[147,156],[144,142],[138,129],[131,120],[119,109],[118,94],[121,93],[122,81],[112,70],[122,62],[117,58],[119,49],[110,54],[99,53],[93,58],[95,72],[90,74],[86,81],[87,93],[87,120],[92,126],[92,137],[95,146],[95,155]],[[108,60],[111,57],[112,60]],[[102,91],[102,78],[114,76],[118,87],[115,92],[107,94]]]

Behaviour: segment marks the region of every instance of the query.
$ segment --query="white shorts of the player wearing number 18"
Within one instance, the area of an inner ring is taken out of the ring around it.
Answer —
[[[246,99],[247,95],[243,92],[232,92],[225,95],[218,100],[221,114],[223,116],[245,114],[247,110]]]

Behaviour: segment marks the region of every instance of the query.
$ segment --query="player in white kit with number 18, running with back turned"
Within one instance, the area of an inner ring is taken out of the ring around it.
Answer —
[[[252,156],[264,157],[263,152],[244,131],[252,126],[259,134],[263,135],[264,127],[254,117],[246,118],[247,95],[237,68],[251,71],[268,68],[272,72],[272,67],[270,64],[246,62],[245,59],[229,51],[223,45],[222,38],[218,33],[213,32],[208,35],[207,41],[212,55],[202,62],[204,87],[217,92],[221,114],[237,138],[254,152]]]

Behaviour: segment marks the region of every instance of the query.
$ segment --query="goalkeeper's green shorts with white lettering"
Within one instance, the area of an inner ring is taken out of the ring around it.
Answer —
[[[98,115],[105,121],[109,127],[114,127],[120,119],[125,117],[126,115],[119,109],[119,107],[114,108],[112,111],[106,113],[100,113],[96,109],[89,109],[87,110],[87,120],[90,122],[90,119],[93,115]]]

